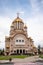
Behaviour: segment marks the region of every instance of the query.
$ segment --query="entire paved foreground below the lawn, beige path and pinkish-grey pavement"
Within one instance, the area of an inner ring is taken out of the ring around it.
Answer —
[[[7,62],[7,63],[6,63]],[[12,59],[10,63],[9,60],[0,60],[0,65],[43,65],[43,59],[38,56],[27,57],[25,59]]]

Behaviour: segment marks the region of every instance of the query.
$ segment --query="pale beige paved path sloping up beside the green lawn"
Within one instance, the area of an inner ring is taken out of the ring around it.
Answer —
[[[41,58],[39,58],[39,56],[31,56],[31,57],[27,57],[25,59],[18,59],[18,58],[15,58],[12,60],[12,62],[15,62],[15,63],[28,63],[28,62],[35,62],[37,60],[42,60]]]

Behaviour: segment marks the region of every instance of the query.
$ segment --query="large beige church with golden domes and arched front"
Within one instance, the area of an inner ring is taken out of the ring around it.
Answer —
[[[6,55],[34,53],[33,40],[28,37],[27,26],[19,16],[11,24],[9,37],[5,37],[5,52]]]

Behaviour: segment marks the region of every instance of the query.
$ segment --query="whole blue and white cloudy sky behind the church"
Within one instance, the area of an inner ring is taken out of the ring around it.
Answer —
[[[12,21],[19,17],[27,25],[28,37],[43,47],[43,0],[0,0],[0,49],[5,48]]]

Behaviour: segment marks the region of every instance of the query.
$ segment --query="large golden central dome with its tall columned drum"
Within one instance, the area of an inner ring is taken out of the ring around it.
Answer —
[[[21,18],[19,18],[19,16],[17,16],[13,22],[12,22],[12,25],[11,25],[11,28],[12,29],[15,29],[15,30],[23,30],[24,28],[24,23],[22,21]]]

